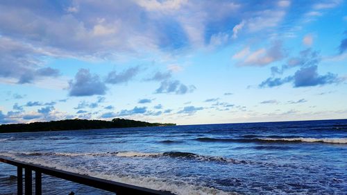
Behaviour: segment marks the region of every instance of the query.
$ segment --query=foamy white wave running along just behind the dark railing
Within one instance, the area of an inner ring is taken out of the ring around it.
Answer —
[[[0,155],[3,155],[2,153]],[[158,178],[153,176],[124,176],[117,175],[117,173],[103,173],[100,171],[91,171],[87,167],[70,167],[61,163],[54,163],[52,167],[51,160],[40,160],[40,159],[28,159],[20,158],[13,155],[6,155],[8,157],[14,158],[15,160],[20,160],[22,162],[40,164],[44,167],[51,167],[54,169],[69,171],[72,173],[78,173],[81,175],[92,176],[95,178],[101,178],[105,180],[112,180],[119,183],[126,183],[129,185],[136,185],[139,187],[146,187],[149,189],[156,189],[160,191],[169,191],[178,195],[185,194],[215,194],[215,195],[237,195],[236,192],[224,192],[220,189],[215,189],[213,187],[206,187],[198,183],[188,183],[183,180],[177,180],[175,178]]]

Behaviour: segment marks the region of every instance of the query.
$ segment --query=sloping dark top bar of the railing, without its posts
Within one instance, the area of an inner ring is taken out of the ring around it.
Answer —
[[[101,178],[94,178],[92,176],[85,176],[78,173],[71,173],[68,171],[62,171],[62,170],[53,169],[49,167],[43,167],[40,165],[30,164],[26,162],[19,162],[17,160],[10,160],[8,158],[3,158],[3,157],[0,157],[0,162],[12,164],[14,166],[22,167],[24,169],[31,169],[33,171],[38,171],[40,173],[44,173],[49,176],[54,176],[56,178],[70,180],[74,183],[80,183],[80,184],[88,185],[98,189],[104,189],[106,191],[115,192],[117,194],[160,194],[160,195],[172,194],[171,192],[162,192],[159,190],[138,187],[135,185],[118,183],[115,181],[104,180]]]

